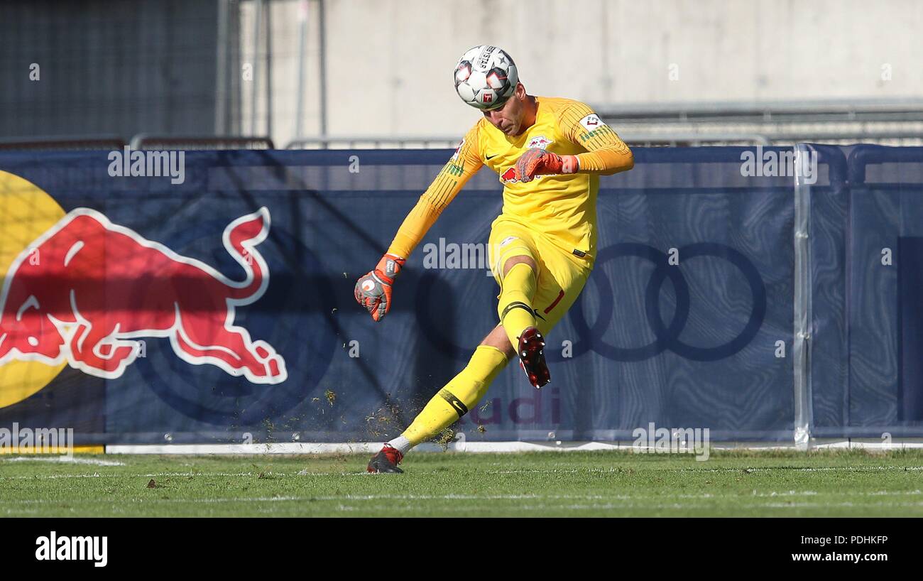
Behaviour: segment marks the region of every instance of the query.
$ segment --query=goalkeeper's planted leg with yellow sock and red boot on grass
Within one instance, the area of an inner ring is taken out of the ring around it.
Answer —
[[[488,340],[494,334],[487,335]],[[368,463],[368,471],[402,472],[397,465],[401,463],[403,454],[467,414],[484,397],[490,383],[508,361],[507,354],[496,346],[478,345],[468,365],[429,400],[407,430],[385,444]]]

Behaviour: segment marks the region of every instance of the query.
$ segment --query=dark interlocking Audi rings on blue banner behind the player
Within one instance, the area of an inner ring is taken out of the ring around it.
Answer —
[[[693,361],[716,361],[731,357],[749,345],[750,341],[760,332],[762,321],[766,316],[766,286],[762,282],[760,272],[753,263],[734,248],[715,242],[689,244],[678,248],[678,254],[683,264],[701,257],[723,259],[734,265],[744,275],[750,287],[751,300],[749,320],[743,330],[722,345],[713,347],[689,345],[682,341],[679,335],[683,332],[687,321],[689,321],[690,301],[689,283],[686,282],[680,267],[669,264],[667,255],[657,248],[646,244],[622,243],[604,248],[598,254],[593,268],[593,275],[590,276],[590,280],[596,285],[599,296],[613,297],[613,300],[599,301],[599,312],[592,325],[586,321],[583,314],[582,294],[573,307],[570,308],[570,321],[573,323],[574,330],[577,333],[577,340],[572,345],[572,357],[593,351],[597,355],[615,361],[642,361],[655,357],[664,351],[669,351]],[[615,301],[619,297],[615,296],[609,279],[603,272],[600,272],[599,267],[609,260],[623,257],[650,260],[654,266],[651,278],[648,280],[644,291],[644,315],[655,338],[648,345],[640,347],[619,347],[608,344],[603,339],[603,335],[609,325],[612,324]],[[418,306],[418,321],[427,338],[438,349],[458,357],[465,357],[468,350],[459,345],[453,345],[447,337],[442,336],[438,325],[432,324],[430,318],[426,316],[429,300],[431,297],[439,296],[438,293],[432,292],[431,289],[437,278],[435,275],[425,277],[418,287],[416,303]],[[677,297],[677,307],[674,310],[673,318],[667,323],[664,322],[660,310],[660,293],[666,279],[670,279]],[[549,352],[548,355],[548,359],[551,361],[563,360],[563,357],[554,351]]]

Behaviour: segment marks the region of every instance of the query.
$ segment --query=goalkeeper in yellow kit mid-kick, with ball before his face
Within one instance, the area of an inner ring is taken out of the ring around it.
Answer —
[[[385,443],[369,462],[369,472],[402,472],[397,465],[403,455],[462,418],[510,358],[520,358],[536,388],[550,381],[544,335],[568,311],[593,270],[599,176],[634,166],[628,146],[587,105],[527,94],[509,54],[493,46],[477,49],[471,62],[462,57],[456,81],[473,64],[507,71],[507,84],[493,103],[472,103],[490,109],[483,109],[484,117],[416,202],[375,270],[356,283],[355,298],[373,320],[382,320],[407,257],[468,179],[486,165],[503,183],[503,210],[491,226],[488,244],[500,287],[499,324],[407,430]]]

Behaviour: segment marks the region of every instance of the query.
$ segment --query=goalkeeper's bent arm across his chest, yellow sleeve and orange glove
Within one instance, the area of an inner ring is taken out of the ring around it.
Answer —
[[[517,179],[528,182],[534,176],[578,172],[611,176],[634,167],[629,146],[587,105],[569,104],[558,114],[557,124],[571,142],[586,151],[577,155],[557,155],[540,149],[526,151],[516,162]]]

